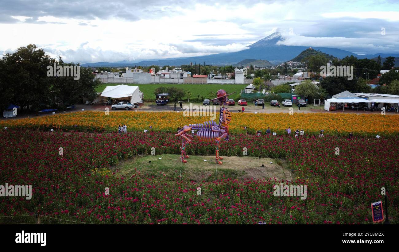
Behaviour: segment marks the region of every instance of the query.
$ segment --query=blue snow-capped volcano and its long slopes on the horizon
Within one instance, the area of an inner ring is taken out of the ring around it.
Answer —
[[[97,62],[97,63],[85,63],[82,66],[90,66],[90,67],[125,67],[132,65],[140,65],[140,66],[150,66],[150,65],[188,65],[190,62],[192,63],[203,63],[205,62],[207,65],[236,65],[238,62],[244,59],[263,59],[270,61],[270,63],[277,65],[279,63],[283,63],[284,61],[289,61],[293,59],[297,55],[299,55],[302,51],[308,49],[312,46],[311,41],[309,42],[309,46],[294,46],[294,45],[277,45],[277,42],[284,41],[284,37],[279,32],[272,33],[271,35],[253,43],[248,46],[248,49],[242,51],[236,51],[231,53],[217,53],[205,56],[196,56],[196,57],[180,57],[180,58],[168,58],[168,59],[150,59],[143,61],[119,61],[119,62]],[[350,51],[345,51],[337,48],[329,48],[329,47],[312,47],[316,51],[321,51],[326,54],[334,55],[339,59],[342,59],[346,56],[354,55],[358,57],[358,59],[372,59],[374,57],[381,56],[381,58],[385,58],[388,56],[399,57],[399,54],[387,55],[384,53],[377,54],[366,54],[366,55],[358,55],[356,53],[352,53]]]

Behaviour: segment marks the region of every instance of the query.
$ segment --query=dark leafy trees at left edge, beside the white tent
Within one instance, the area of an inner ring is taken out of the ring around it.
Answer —
[[[48,66],[79,66],[65,63],[45,55],[43,49],[34,44],[20,47],[14,53],[6,53],[0,59],[0,108],[10,103],[20,106],[21,112],[37,112],[42,108],[65,109],[81,102],[92,100],[97,95],[95,88],[101,83],[94,79],[91,69],[80,67],[80,78],[49,77]]]

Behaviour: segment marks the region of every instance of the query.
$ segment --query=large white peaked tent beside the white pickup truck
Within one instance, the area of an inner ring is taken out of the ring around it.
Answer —
[[[135,86],[128,85],[117,85],[117,86],[107,86],[104,91],[101,92],[101,95],[97,97],[92,104],[95,102],[99,102],[101,98],[117,98],[119,100],[130,99],[130,103],[142,103],[143,93]]]

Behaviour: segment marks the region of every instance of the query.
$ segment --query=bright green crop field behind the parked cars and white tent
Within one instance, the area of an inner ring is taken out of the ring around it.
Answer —
[[[123,84],[123,83],[122,83]],[[97,87],[97,92],[102,92],[106,86],[120,85],[120,83],[104,83]],[[244,89],[246,84],[123,84],[129,86],[138,86],[141,92],[144,93],[144,100],[155,100],[154,90],[157,87],[168,87],[174,86],[184,91],[191,91],[192,97],[196,98],[197,95],[204,96],[204,98],[215,98],[208,97],[209,91],[213,91],[215,94],[219,89],[224,89],[227,93],[237,92],[240,93],[241,89]],[[233,95],[231,98],[234,98]]]

